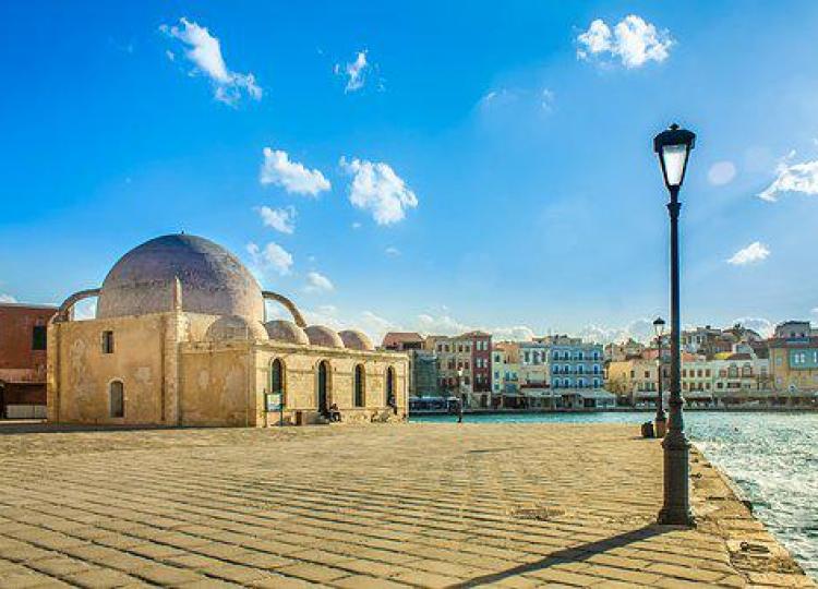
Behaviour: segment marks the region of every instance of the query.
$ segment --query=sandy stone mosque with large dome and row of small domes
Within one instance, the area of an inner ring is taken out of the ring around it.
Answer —
[[[74,306],[97,297],[93,320]],[[266,317],[265,301],[291,321]],[[406,419],[408,359],[358,330],[304,322],[239,259],[189,235],[124,254],[71,294],[48,332],[56,423],[246,425]]]

